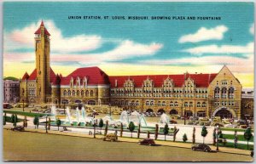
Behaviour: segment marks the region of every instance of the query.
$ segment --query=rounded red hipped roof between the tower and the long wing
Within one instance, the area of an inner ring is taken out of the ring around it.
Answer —
[[[84,77],[87,77],[88,85],[97,85],[97,84],[109,84],[108,75],[98,67],[86,67],[79,68],[73,71],[68,76],[61,78],[61,85],[69,85],[70,80],[73,77],[73,82],[77,81],[79,76],[80,82],[83,82]]]

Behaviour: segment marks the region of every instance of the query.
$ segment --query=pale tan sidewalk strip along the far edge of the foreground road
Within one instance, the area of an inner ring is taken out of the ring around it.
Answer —
[[[10,130],[9,127],[4,127],[3,129]],[[45,133],[45,129],[29,129],[26,128],[26,132],[32,132],[32,133]],[[85,134],[85,133],[69,133],[67,132],[61,132],[61,131],[54,131],[54,130],[48,130],[48,134],[55,134],[55,135],[63,135],[63,136],[73,136],[73,137],[83,137],[83,138],[90,138],[93,139],[93,135]],[[96,139],[102,139],[102,135],[96,135]],[[127,138],[127,137],[119,137],[119,141],[121,142],[131,142],[131,143],[137,143],[139,140],[137,138]],[[155,141],[155,144],[165,145],[165,146],[171,146],[171,147],[180,147],[180,148],[186,148],[191,149],[191,143],[181,143],[181,142],[171,142],[171,141]],[[212,150],[216,150],[215,146],[210,145]],[[224,153],[230,153],[230,154],[239,154],[239,155],[247,155],[249,156],[251,151],[250,150],[239,150],[234,148],[226,148],[226,147],[219,147],[219,152]]]

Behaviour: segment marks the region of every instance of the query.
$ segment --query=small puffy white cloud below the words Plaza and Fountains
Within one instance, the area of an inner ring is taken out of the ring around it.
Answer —
[[[188,34],[180,37],[178,42],[201,42],[207,40],[221,40],[224,37],[224,32],[228,31],[225,25],[218,25],[215,28],[207,29],[201,27],[195,34]]]

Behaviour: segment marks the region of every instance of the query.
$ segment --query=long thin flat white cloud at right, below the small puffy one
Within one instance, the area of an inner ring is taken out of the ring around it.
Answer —
[[[246,46],[233,46],[233,45],[222,45],[218,46],[215,44],[200,46],[196,48],[189,48],[183,50],[190,54],[201,55],[201,54],[252,54],[254,52],[253,42],[247,43]]]

